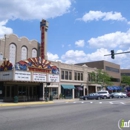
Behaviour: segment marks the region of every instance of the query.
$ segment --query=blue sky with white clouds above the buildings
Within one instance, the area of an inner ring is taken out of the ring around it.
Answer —
[[[0,38],[16,34],[41,42],[49,23],[48,60],[75,64],[106,60],[130,69],[130,0],[0,0]]]

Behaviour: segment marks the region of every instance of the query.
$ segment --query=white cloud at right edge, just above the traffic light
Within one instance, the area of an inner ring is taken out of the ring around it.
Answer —
[[[123,48],[130,46],[130,30],[127,32],[117,31],[88,40],[91,47],[96,48]]]

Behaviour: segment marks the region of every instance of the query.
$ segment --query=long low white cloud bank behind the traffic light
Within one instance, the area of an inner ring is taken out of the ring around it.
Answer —
[[[125,51],[130,51],[130,48]],[[124,52],[124,51],[123,50],[115,51],[115,53],[120,53],[120,52]],[[112,59],[111,55],[104,56],[107,54],[110,54],[110,50],[107,50],[105,48],[97,49],[95,52],[88,53],[88,54],[86,54],[84,51],[69,50],[64,55],[61,56],[61,60],[67,64],[105,60],[105,61],[113,62],[115,64],[119,64],[121,68],[130,69],[130,65],[129,65],[130,53],[115,55],[115,59]]]

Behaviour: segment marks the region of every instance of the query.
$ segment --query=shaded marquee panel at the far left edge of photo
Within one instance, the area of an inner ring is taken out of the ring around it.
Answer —
[[[13,71],[0,72],[0,81],[13,80]]]

